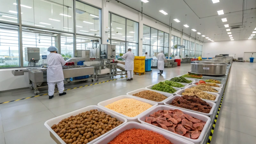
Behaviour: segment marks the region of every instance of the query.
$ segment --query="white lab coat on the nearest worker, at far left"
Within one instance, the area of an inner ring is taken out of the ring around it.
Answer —
[[[66,64],[63,57],[58,53],[47,55],[47,82],[59,82],[64,80],[62,66]]]

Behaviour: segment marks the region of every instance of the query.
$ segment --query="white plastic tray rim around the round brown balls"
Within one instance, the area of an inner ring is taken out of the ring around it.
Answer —
[[[120,124],[118,127],[121,127],[121,126],[123,126],[124,124],[127,123],[127,119],[126,119],[126,118],[124,118],[124,117],[122,117],[122,116],[119,116],[119,115],[117,115],[117,114],[115,114],[115,113],[113,113],[113,112],[110,112],[110,111],[108,111],[108,110],[106,110],[106,109],[103,109],[103,108],[100,108],[100,107],[98,107],[98,106],[88,106],[88,107],[81,108],[81,109],[75,110],[75,111],[73,111],[73,112],[70,112],[70,113],[61,115],[61,116],[54,117],[54,118],[52,118],[52,119],[46,121],[46,122],[44,123],[44,126],[50,131],[50,135],[51,135],[52,139],[53,139],[56,143],[58,143],[58,144],[66,144],[66,143],[58,136],[58,134],[52,130],[52,128],[51,128],[52,125],[53,125],[53,124],[58,124],[62,119],[68,118],[68,117],[70,117],[70,116],[76,116],[76,115],[78,115],[78,114],[80,114],[80,113],[83,113],[83,112],[86,112],[86,111],[89,111],[89,110],[92,110],[92,109],[98,109],[98,111],[103,111],[103,112],[105,112],[106,114],[110,115],[111,117],[116,117],[117,120],[124,122],[123,124]],[[116,129],[118,129],[118,127],[117,127]],[[114,128],[113,130],[111,130],[111,131],[115,131],[115,128]],[[109,132],[107,132],[107,133],[101,135],[99,138],[100,138],[100,139],[104,138],[105,136],[107,136],[108,134],[110,134],[111,131],[109,131]],[[92,143],[94,143],[94,142],[96,142],[96,141],[98,141],[98,140],[100,140],[100,139],[98,139],[98,138],[97,138],[97,139],[94,139],[94,140],[90,141],[90,142],[87,143],[87,144],[92,144]]]

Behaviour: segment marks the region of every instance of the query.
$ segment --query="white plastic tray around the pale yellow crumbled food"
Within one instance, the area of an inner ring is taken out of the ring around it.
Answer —
[[[152,105],[152,107],[148,108],[147,110],[145,110],[144,112],[140,113],[139,115],[137,116],[134,116],[134,117],[130,117],[130,116],[125,116],[123,114],[120,114],[114,110],[111,110],[111,109],[108,109],[106,108],[105,106],[107,106],[108,104],[111,104],[117,100],[122,100],[122,99],[125,99],[125,98],[128,98],[128,99],[134,99],[134,100],[139,100],[141,102],[145,102],[145,103],[148,103],[150,105]],[[148,110],[154,108],[157,106],[157,103],[156,102],[151,102],[151,101],[148,101],[148,100],[145,100],[145,99],[140,99],[140,98],[137,98],[137,97],[134,97],[134,96],[128,96],[128,95],[121,95],[121,96],[118,96],[118,97],[115,97],[115,98],[112,98],[112,99],[108,99],[108,100],[105,100],[105,101],[101,101],[98,103],[98,106],[100,108],[104,108],[104,109],[107,109],[108,111],[111,111],[117,115],[120,115],[120,116],[123,116],[124,118],[127,119],[127,122],[138,122],[138,117],[141,116],[143,113],[147,112]]]

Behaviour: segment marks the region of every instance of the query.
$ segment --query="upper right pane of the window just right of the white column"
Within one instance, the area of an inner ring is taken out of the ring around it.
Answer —
[[[138,43],[138,22],[127,20],[126,41]]]

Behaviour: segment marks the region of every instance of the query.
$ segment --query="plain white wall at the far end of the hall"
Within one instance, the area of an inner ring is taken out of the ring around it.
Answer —
[[[236,54],[243,58],[244,52],[256,52],[256,39],[204,43],[203,57],[214,57],[219,54]]]

